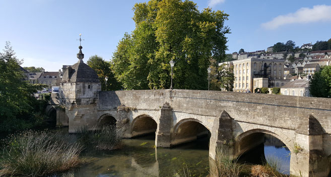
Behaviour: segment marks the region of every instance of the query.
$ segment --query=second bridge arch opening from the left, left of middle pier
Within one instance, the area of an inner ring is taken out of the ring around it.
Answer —
[[[157,127],[158,124],[152,116],[146,114],[139,115],[131,122],[131,136],[135,137],[144,134],[155,133]]]

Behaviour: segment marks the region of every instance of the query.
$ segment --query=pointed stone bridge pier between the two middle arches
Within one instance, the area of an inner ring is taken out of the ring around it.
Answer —
[[[160,110],[159,125],[155,135],[156,147],[170,147],[172,120],[172,109],[166,102]]]

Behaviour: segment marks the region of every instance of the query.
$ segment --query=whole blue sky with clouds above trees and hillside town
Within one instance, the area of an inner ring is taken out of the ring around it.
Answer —
[[[145,1],[1,0],[0,48],[12,43],[22,66],[57,71],[77,62],[82,33],[84,61],[94,54],[111,59],[125,32],[135,29],[135,3]],[[331,1],[194,0],[229,14],[229,50],[263,50],[277,42],[297,45],[331,38]]]

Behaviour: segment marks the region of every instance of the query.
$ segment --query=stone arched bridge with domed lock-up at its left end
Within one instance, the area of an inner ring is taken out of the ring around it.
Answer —
[[[157,147],[209,134],[213,159],[217,148],[235,158],[269,134],[291,151],[292,174],[327,176],[330,171],[330,99],[195,90],[103,92],[81,49],[78,63],[63,72],[58,97],[65,106],[57,110],[58,122],[69,125],[71,133],[81,126],[115,124],[127,138],[155,132]]]

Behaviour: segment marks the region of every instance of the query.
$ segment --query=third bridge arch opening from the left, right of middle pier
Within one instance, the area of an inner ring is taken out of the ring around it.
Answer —
[[[211,131],[202,121],[193,118],[182,119],[174,126],[171,145],[194,141],[204,135],[211,136]]]

